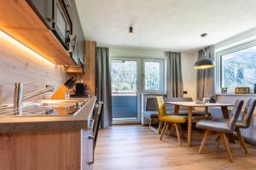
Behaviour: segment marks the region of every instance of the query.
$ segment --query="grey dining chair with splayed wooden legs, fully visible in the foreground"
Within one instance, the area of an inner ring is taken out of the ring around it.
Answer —
[[[233,158],[230,151],[230,145],[226,138],[226,133],[233,133],[235,131],[236,122],[240,115],[242,105],[243,105],[243,100],[237,99],[231,111],[232,116],[230,117],[230,120],[228,122],[215,122],[215,121],[202,120],[196,123],[196,127],[206,130],[204,138],[202,139],[202,142],[201,142],[200,149],[198,151],[199,154],[201,154],[202,151],[204,150],[209,134],[214,132],[214,133],[218,133],[220,138],[223,140],[224,146],[228,152],[230,161],[233,162]]]

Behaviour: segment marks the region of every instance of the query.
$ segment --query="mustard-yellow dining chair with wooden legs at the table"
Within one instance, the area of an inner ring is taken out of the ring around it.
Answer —
[[[180,123],[186,122],[185,116],[166,115],[166,105],[163,97],[156,96],[155,100],[156,100],[159,120],[160,122],[164,122],[164,127],[162,128],[160,139],[162,139],[164,133],[168,130],[168,128],[173,125],[177,133],[177,142],[178,144],[181,144],[180,132],[182,133],[182,128],[180,126]]]

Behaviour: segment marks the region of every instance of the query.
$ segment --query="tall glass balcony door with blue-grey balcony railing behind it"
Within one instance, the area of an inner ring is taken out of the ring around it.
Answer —
[[[139,60],[112,58],[110,63],[113,122],[140,122]]]

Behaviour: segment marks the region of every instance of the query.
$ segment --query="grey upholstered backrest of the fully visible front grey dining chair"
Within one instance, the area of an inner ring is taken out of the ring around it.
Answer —
[[[236,102],[235,102],[235,105],[232,108],[232,111],[231,111],[232,116],[230,117],[230,120],[228,122],[228,126],[230,127],[230,129],[232,131],[235,130],[236,122],[237,122],[237,119],[238,119],[239,114],[241,112],[242,105],[243,105],[243,100],[237,99]]]

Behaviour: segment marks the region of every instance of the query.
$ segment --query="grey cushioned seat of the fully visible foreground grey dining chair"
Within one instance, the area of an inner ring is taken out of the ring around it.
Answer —
[[[196,123],[196,127],[206,130],[217,131],[221,133],[232,133],[233,131],[228,127],[226,122],[213,122],[207,120],[201,120]]]

